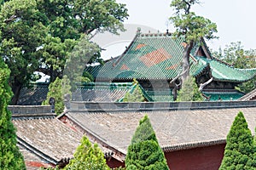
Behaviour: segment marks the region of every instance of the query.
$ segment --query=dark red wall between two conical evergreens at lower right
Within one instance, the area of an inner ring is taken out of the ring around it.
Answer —
[[[218,170],[224,156],[225,144],[178,150],[165,153],[170,169],[174,170]]]

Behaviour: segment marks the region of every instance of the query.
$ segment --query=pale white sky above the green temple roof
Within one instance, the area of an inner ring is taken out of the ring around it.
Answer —
[[[125,24],[143,25],[159,31],[174,31],[167,22],[173,11],[172,0],[117,0],[125,3],[130,17]],[[218,40],[207,42],[209,48],[218,50],[230,42],[241,41],[244,48],[256,48],[256,1],[255,0],[201,0],[192,10],[218,26]],[[146,31],[148,32],[148,31]],[[135,35],[135,33],[134,33]]]

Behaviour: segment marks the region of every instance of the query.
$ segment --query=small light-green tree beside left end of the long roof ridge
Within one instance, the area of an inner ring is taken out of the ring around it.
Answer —
[[[50,98],[55,99],[55,113],[57,115],[61,114],[64,110],[64,95],[62,94],[62,83],[59,77],[55,79],[55,82],[49,84],[49,92],[42,105],[49,105]]]

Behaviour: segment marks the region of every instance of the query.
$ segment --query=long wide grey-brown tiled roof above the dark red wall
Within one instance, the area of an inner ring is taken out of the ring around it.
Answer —
[[[242,111],[254,133],[256,107],[177,111],[70,111],[66,116],[97,139],[126,154],[139,120],[148,114],[163,150],[223,144]]]

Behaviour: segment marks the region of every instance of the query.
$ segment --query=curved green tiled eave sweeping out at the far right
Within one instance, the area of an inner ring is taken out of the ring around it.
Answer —
[[[237,69],[225,65],[216,59],[197,57],[203,64],[211,66],[212,77],[217,81],[224,82],[247,82],[256,75],[256,69]]]

